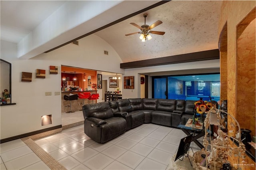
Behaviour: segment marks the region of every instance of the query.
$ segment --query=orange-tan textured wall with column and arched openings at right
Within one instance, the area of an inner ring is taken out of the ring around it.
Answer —
[[[223,1],[218,26],[221,99],[227,97],[228,113],[238,120],[241,128],[252,130],[252,136],[256,121],[255,6],[256,1]],[[230,119],[228,129],[234,129]],[[231,162],[235,160],[230,158]],[[255,169],[255,160],[246,156],[243,161]]]

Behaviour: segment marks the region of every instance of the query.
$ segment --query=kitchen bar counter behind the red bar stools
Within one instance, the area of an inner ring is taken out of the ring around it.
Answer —
[[[70,105],[70,101],[66,101],[64,100],[64,95],[69,95],[70,93],[72,94],[78,94],[78,93],[84,93],[84,92],[90,92],[91,94],[96,94],[97,90],[90,90],[90,91],[62,91],[61,92],[61,112],[67,112],[69,111],[70,107],[67,107]],[[79,99],[78,100],[73,100],[71,101],[71,111],[79,111],[80,109],[82,109],[82,103],[83,103],[83,99]],[[92,103],[92,101],[89,101],[88,99],[84,99],[84,103],[89,104]],[[95,101],[94,101],[95,103]]]

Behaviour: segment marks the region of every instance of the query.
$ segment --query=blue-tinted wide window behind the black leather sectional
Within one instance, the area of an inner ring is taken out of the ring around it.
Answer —
[[[165,99],[167,83],[168,99],[220,100],[220,74],[167,76],[153,80],[154,98]]]

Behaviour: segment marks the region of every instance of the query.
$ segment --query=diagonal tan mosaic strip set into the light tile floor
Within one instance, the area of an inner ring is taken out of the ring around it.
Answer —
[[[29,137],[21,140],[52,170],[67,170],[62,164],[55,160],[50,154],[43,150],[34,140]]]

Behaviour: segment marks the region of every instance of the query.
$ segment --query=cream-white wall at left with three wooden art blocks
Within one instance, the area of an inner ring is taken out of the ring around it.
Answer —
[[[61,91],[61,65],[124,73],[116,51],[95,35],[79,40],[79,46],[68,44],[23,60],[17,57],[16,44],[1,41],[1,58],[12,63],[12,103],[16,103],[0,107],[1,139],[61,125],[61,95],[54,95]],[[57,75],[49,74],[50,65],[58,66]],[[35,78],[36,69],[45,69],[46,78]],[[21,82],[22,71],[32,73],[32,82]],[[51,125],[41,126],[43,115],[52,115]]]

